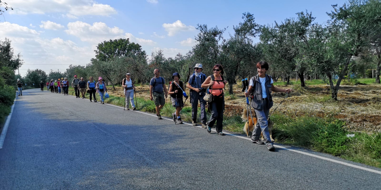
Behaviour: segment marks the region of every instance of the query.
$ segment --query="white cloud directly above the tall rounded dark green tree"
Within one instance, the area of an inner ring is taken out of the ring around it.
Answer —
[[[130,41],[140,45],[153,46],[156,43],[152,40],[136,38],[131,33],[125,33],[118,27],[110,28],[103,22],[94,22],[93,25],[86,22],[76,21],[67,24],[65,32],[69,35],[77,36],[81,41],[98,44],[104,40],[114,40],[118,38],[130,38]]]

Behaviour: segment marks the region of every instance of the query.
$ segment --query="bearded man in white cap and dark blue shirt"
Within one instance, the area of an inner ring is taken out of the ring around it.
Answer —
[[[207,102],[203,99],[206,89],[201,87],[201,84],[207,79],[207,76],[205,76],[204,73],[201,73],[202,70],[202,64],[197,63],[194,67],[194,73],[189,77],[187,88],[189,88],[191,94],[193,126],[197,126],[197,106],[200,101],[202,127],[207,128],[207,111],[205,109]]]

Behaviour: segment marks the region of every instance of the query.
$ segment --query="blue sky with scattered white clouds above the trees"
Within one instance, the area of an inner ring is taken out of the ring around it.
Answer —
[[[104,40],[130,38],[148,55],[163,50],[166,57],[186,54],[195,44],[197,24],[228,27],[254,14],[258,24],[281,22],[299,11],[312,12],[325,23],[331,5],[344,0],[320,1],[174,1],[174,0],[5,0],[14,10],[0,17],[0,40],[9,38],[23,55],[20,74],[30,69],[66,70],[85,65]],[[226,33],[226,36],[228,33]],[[37,65],[45,64],[45,65]]]

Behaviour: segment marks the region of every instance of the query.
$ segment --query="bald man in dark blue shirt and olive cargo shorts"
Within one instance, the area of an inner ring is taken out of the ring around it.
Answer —
[[[155,102],[157,119],[162,119],[160,109],[162,109],[165,104],[165,98],[168,97],[168,92],[165,87],[164,78],[160,76],[160,70],[155,69],[154,75],[154,78],[149,82],[149,96],[150,100]],[[163,90],[165,91],[165,95]]]

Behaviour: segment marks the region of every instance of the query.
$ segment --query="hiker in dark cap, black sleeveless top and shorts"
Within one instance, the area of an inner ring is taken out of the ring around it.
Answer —
[[[181,89],[184,89],[184,86],[182,84],[182,81],[179,81],[179,73],[173,73],[172,78],[173,82],[170,84],[168,90],[168,94],[171,95],[172,106],[176,108],[176,111],[172,113],[172,119],[174,122],[176,122],[177,120],[179,124],[182,124],[180,111],[182,107],[184,107],[184,101],[182,100],[183,95]]]

